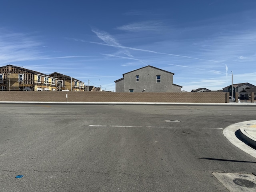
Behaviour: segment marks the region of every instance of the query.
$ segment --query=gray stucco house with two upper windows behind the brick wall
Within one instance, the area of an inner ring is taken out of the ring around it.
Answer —
[[[173,75],[150,65],[142,67],[116,80],[116,92],[181,92],[182,86],[173,84]]]

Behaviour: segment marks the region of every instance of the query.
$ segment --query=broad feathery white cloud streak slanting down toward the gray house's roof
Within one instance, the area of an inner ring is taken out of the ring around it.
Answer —
[[[112,46],[112,47],[116,47],[119,49],[120,52],[122,52],[123,54],[132,57],[132,55],[130,54],[130,52],[128,50],[126,50],[125,47],[123,47],[120,43],[118,43],[118,41],[116,39],[114,39],[110,34],[108,34],[105,31],[100,31],[97,29],[92,29],[92,32],[94,32],[98,38],[100,38],[101,40],[103,40],[108,46]]]

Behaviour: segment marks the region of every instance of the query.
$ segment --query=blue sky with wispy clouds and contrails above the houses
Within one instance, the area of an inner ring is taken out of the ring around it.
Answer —
[[[255,0],[1,0],[0,66],[115,91],[144,66],[182,90],[256,85]]]

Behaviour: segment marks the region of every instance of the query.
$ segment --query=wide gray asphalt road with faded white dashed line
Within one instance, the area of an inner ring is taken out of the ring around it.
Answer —
[[[0,191],[227,192],[212,173],[256,174],[256,159],[222,130],[255,118],[239,105],[0,104]]]

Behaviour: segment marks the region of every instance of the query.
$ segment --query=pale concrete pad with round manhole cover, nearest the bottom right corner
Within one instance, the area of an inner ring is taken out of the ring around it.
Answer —
[[[231,192],[255,192],[256,176],[246,173],[212,173]]]

